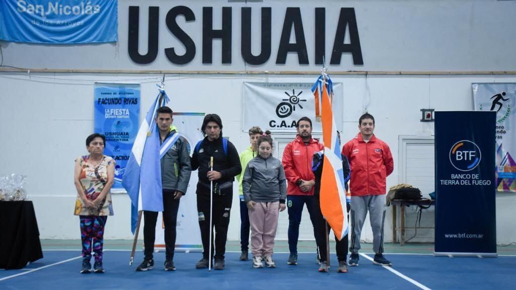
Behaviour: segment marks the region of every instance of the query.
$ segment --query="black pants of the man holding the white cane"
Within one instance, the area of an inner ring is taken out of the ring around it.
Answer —
[[[202,192],[197,190],[197,211],[199,214],[199,228],[201,229],[202,239],[202,255],[208,257],[209,243],[212,244],[211,256],[215,251],[216,259],[224,259],[225,243],[228,238],[228,226],[231,212],[231,203],[233,202],[233,189],[228,194],[219,196],[213,195],[213,216],[212,216],[212,227],[209,224],[209,189]],[[213,231],[215,227],[215,233],[212,234],[212,240],[209,241],[209,231]],[[215,247],[213,247],[213,238],[215,236]]]

